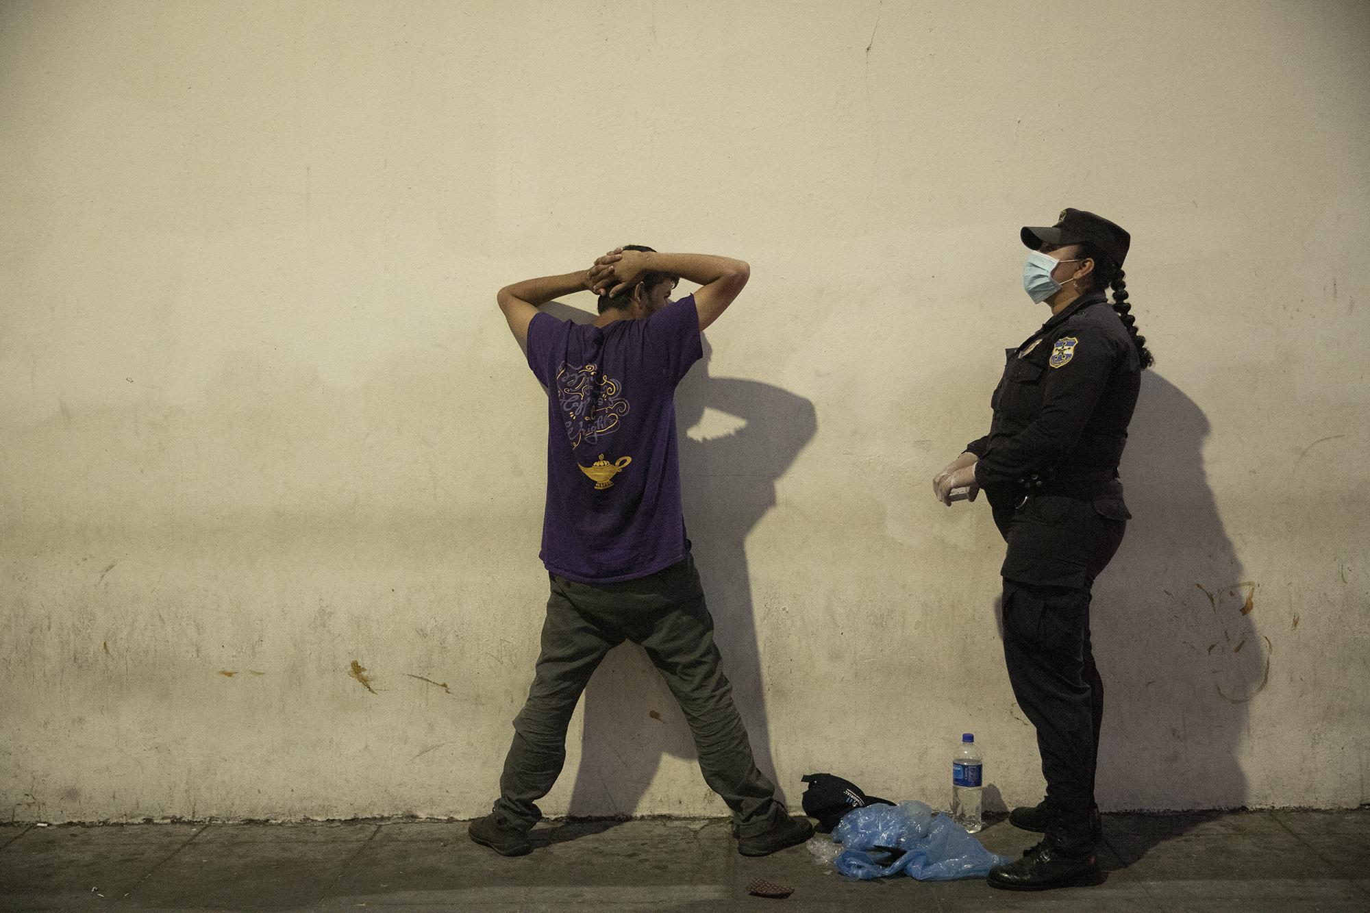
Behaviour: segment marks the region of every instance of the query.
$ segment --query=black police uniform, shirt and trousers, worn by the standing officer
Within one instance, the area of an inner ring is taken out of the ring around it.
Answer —
[[[1047,839],[1062,847],[1092,846],[1103,683],[1089,591],[1130,517],[1118,461],[1140,378],[1126,326],[1103,293],[1085,295],[1008,350],[989,433],[966,446],[1008,543],[1004,659],[1037,728]]]

